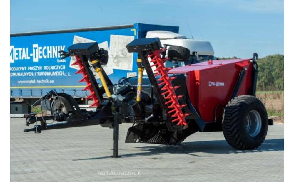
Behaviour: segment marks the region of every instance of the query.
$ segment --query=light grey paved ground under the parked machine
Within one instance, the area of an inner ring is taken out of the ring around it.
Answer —
[[[25,119],[11,118],[11,181],[283,181],[284,125],[269,126],[256,150],[230,147],[222,132],[195,133],[181,145],[124,143],[119,155],[113,130],[101,126],[22,132]]]

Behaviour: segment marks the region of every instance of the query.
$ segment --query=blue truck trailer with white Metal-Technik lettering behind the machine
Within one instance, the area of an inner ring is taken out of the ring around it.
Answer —
[[[162,26],[135,23],[122,26],[82,28],[71,30],[16,33],[10,35],[10,96],[35,100],[49,90],[65,92],[74,98],[85,98],[82,91],[85,82],[77,67],[72,66],[74,58],[61,59],[58,51],[67,50],[73,43],[96,41],[99,47],[109,51],[109,78],[117,82],[121,77],[137,75],[137,55],[128,53],[126,44],[138,38],[145,38],[148,31],[163,30],[178,33],[178,26]],[[97,79],[97,82],[100,80]]]

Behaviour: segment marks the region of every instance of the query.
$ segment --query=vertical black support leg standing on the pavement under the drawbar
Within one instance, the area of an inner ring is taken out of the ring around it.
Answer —
[[[119,135],[119,122],[120,115],[117,111],[113,112],[113,155],[112,158],[119,158],[121,156],[118,155],[118,135]]]

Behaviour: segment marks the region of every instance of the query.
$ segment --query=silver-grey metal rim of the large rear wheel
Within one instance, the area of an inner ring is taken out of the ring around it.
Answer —
[[[246,116],[245,129],[249,136],[255,137],[261,130],[261,117],[256,110],[251,110]]]

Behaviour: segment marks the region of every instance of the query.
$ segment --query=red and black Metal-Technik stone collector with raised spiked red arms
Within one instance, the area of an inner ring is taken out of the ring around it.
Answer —
[[[113,128],[113,157],[118,157],[122,123],[133,123],[125,140],[129,143],[179,144],[198,131],[223,131],[235,149],[255,149],[262,144],[273,120],[255,97],[256,53],[252,59],[208,60],[166,68],[166,61],[189,59],[189,49],[162,47],[159,38],[136,39],[126,47],[138,54],[138,76],[121,78],[116,84],[101,66],[107,64],[108,52],[99,49],[96,42],[74,44],[68,52],[61,51],[63,58],[76,57],[74,64],[80,67],[76,73],[83,75],[80,82],[86,82],[84,90],[90,92],[87,98],[93,99],[91,106],[96,109],[80,109],[70,95],[52,90],[33,105],[46,105],[50,99],[46,107],[51,115],[30,114],[26,125],[35,125],[24,132],[90,125]],[[91,66],[102,86],[97,84]],[[143,76],[144,70],[147,76]],[[59,123],[49,124],[48,120]]]

